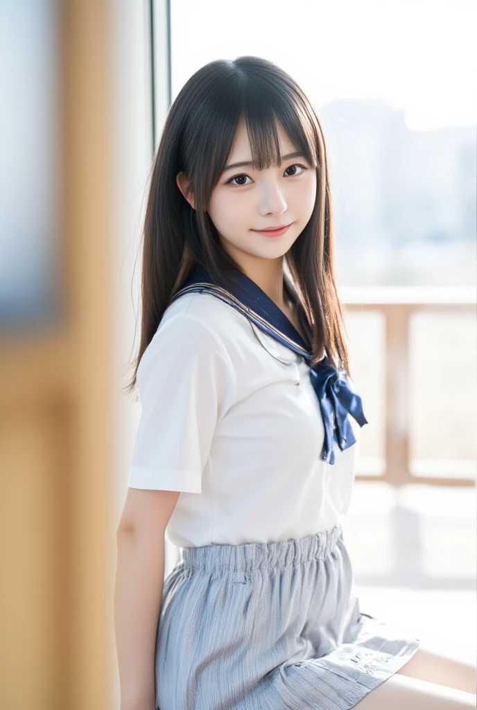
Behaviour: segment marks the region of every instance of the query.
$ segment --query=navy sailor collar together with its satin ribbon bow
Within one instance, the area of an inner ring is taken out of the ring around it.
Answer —
[[[334,464],[334,444],[341,450],[356,443],[349,415],[360,425],[368,423],[363,413],[361,397],[356,393],[346,371],[332,366],[327,356],[315,365],[311,365],[312,331],[309,327],[305,310],[295,290],[295,286],[284,273],[283,278],[288,292],[297,307],[300,324],[307,336],[306,343],[283,310],[243,271],[236,270],[236,283],[229,289],[215,285],[209,273],[203,268],[195,268],[186,279],[182,288],[172,296],[171,303],[185,293],[210,293],[223,300],[248,320],[255,323],[264,332],[301,355],[310,366],[310,378],[319,401],[324,424],[324,444],[321,458]]]

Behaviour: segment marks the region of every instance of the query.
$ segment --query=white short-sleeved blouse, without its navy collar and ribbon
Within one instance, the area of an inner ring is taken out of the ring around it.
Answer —
[[[341,451],[335,442],[334,464],[322,461],[307,361],[234,307],[207,293],[178,297],[143,353],[137,383],[128,486],[180,491],[170,542],[273,542],[341,522],[361,427],[349,415],[356,444]]]

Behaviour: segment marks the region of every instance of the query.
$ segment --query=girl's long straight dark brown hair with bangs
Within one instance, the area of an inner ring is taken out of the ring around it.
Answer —
[[[144,222],[141,342],[128,391],[136,386],[143,352],[170,298],[194,266],[206,268],[222,288],[239,269],[221,245],[207,212],[209,199],[244,117],[253,167],[281,164],[276,121],[317,170],[309,222],[285,258],[313,333],[312,364],[323,352],[349,373],[344,320],[334,275],[334,229],[327,151],[322,127],[298,84],[273,62],[244,56],[209,62],[186,82],[165,120],[150,178]],[[177,187],[190,178],[194,207]]]

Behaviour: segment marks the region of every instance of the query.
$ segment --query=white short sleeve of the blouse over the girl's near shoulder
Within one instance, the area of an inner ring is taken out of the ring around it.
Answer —
[[[173,315],[155,332],[136,377],[141,416],[128,487],[201,493],[216,424],[234,399],[223,342],[196,316]]]

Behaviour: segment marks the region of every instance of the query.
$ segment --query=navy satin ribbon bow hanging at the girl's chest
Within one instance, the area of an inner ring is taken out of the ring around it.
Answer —
[[[334,464],[334,441],[341,451],[356,444],[348,415],[351,414],[360,427],[368,424],[368,420],[363,413],[361,397],[351,387],[346,371],[339,371],[328,363],[325,358],[312,366],[309,376],[322,410],[324,444],[321,458],[329,464]]]

